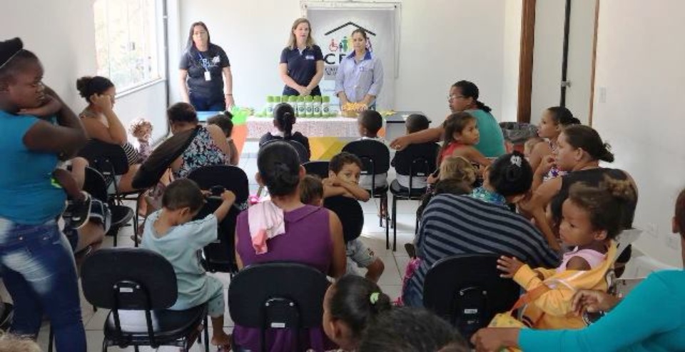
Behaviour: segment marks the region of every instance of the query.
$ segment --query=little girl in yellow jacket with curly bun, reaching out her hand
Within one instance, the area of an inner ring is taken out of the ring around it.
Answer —
[[[579,289],[607,291],[605,277],[617,249],[612,239],[624,230],[624,213],[634,198],[629,181],[607,177],[599,187],[574,183],[562,205],[559,227],[562,242],[574,248],[564,254],[561,266],[532,269],[517,258],[497,260],[502,276],[514,278],[526,291],[542,285],[549,288],[524,308],[524,323],[541,329],[585,326],[572,310],[572,296]]]

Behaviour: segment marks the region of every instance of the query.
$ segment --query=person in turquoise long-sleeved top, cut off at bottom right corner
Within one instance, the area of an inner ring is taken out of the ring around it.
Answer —
[[[676,199],[673,231],[685,245],[685,190]],[[685,262],[685,246],[683,248]],[[592,325],[578,330],[484,328],[471,342],[479,352],[519,347],[547,351],[685,351],[685,271],[651,273],[625,298],[597,290],[579,290],[572,311],[604,312]]]

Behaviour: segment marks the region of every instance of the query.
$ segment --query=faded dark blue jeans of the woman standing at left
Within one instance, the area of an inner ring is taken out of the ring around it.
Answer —
[[[0,275],[14,301],[12,333],[36,336],[46,313],[57,351],[86,351],[76,264],[55,221],[20,225],[0,218]]]

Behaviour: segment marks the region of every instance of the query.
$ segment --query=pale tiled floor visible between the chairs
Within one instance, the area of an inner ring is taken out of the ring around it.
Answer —
[[[257,159],[256,159],[256,142],[248,142],[243,149],[243,154],[240,159],[240,168],[245,171],[250,180],[250,194],[256,193],[258,185],[255,181],[254,175],[257,172]],[[388,177],[389,179],[394,178],[392,170]],[[362,203],[362,208],[365,213],[365,223],[362,231],[362,242],[370,246],[373,251],[382,258],[385,263],[385,271],[380,277],[379,285],[383,292],[387,293],[391,298],[397,298],[400,296],[400,291],[402,288],[402,275],[404,273],[405,266],[409,260],[407,253],[404,250],[404,244],[412,241],[414,237],[414,224],[415,224],[415,211],[417,207],[416,201],[401,201],[398,202],[397,206],[397,252],[392,252],[385,248],[385,228],[378,226],[378,216],[377,207],[380,200],[375,199],[367,203]],[[131,226],[121,228],[118,233],[118,246],[133,246],[133,241],[131,241],[131,234],[133,233],[133,228]],[[113,238],[107,237],[105,239],[104,246],[112,246]],[[392,245],[392,229],[390,230],[390,241]],[[224,283],[224,287],[228,290],[228,283],[230,279],[228,274],[217,273],[212,274],[218,277]],[[226,297],[227,295],[224,295]],[[228,314],[228,304],[227,311],[225,314],[225,330],[230,332],[233,328],[233,321],[230,321],[230,316]],[[83,324],[86,327],[86,338],[88,339],[88,351],[101,351],[102,346],[102,328],[103,323],[106,318],[107,310],[98,309],[97,312],[93,312],[93,307],[88,304],[88,302],[81,296],[81,308],[83,311]],[[48,341],[48,329],[49,324],[44,323],[43,328],[41,328],[41,333],[39,335],[39,344],[44,351],[47,351],[47,341]],[[210,331],[211,336],[211,331]],[[117,347],[108,348],[108,351],[133,351],[133,348],[120,349]],[[153,348],[141,348],[141,351],[154,351]],[[172,347],[161,347],[157,351],[178,351],[178,348]],[[196,343],[193,348],[193,352],[204,351],[203,346],[198,346]],[[216,351],[215,347],[210,347],[210,351]]]

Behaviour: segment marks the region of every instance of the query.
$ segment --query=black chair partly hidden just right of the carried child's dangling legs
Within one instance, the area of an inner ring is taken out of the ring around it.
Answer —
[[[114,236],[114,246],[116,247],[116,234],[121,226],[125,226],[134,217],[133,209],[122,206],[112,201],[107,193],[107,181],[105,177],[91,166],[86,166],[86,178],[83,182],[83,191],[88,192],[93,198],[105,203],[111,211],[111,224],[108,235]]]

